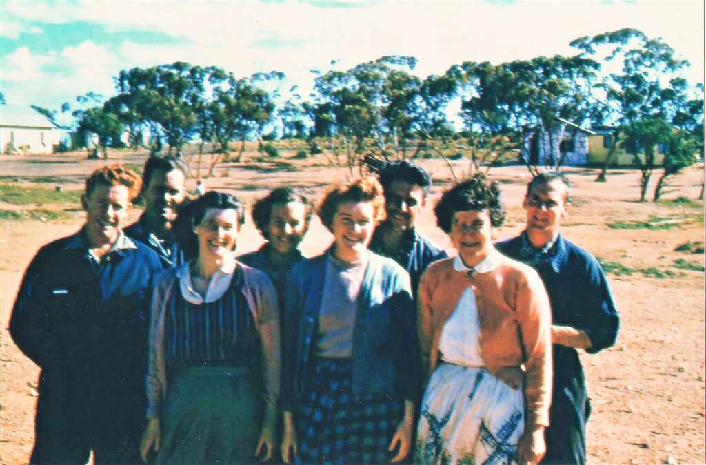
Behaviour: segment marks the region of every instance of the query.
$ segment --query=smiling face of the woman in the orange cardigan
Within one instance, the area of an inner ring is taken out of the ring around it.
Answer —
[[[467,267],[474,267],[493,248],[489,210],[455,212],[448,234]]]

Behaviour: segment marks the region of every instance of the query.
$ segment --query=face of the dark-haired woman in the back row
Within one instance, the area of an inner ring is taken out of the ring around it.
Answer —
[[[306,232],[306,206],[301,202],[275,203],[267,229],[270,246],[282,255],[291,253]]]

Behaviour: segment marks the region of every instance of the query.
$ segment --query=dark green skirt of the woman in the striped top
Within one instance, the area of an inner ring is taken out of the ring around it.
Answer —
[[[262,402],[245,367],[183,368],[172,376],[157,464],[251,464]]]

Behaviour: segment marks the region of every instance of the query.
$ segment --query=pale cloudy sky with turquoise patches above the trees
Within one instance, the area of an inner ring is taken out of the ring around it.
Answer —
[[[698,0],[0,0],[0,92],[76,108],[77,95],[114,95],[122,69],[186,61],[237,77],[282,71],[282,87],[306,96],[313,69],[397,54],[419,59],[425,77],[464,61],[575,54],[571,40],[621,28],[662,37],[703,83]]]

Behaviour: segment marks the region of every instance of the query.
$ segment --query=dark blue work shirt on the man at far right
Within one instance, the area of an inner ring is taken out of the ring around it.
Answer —
[[[525,234],[524,232],[522,234]],[[515,260],[523,260],[523,238],[517,236],[496,244],[496,248]],[[586,250],[561,235],[542,258],[534,261],[551,302],[552,324],[584,331],[591,339],[586,352],[596,354],[612,346],[618,337],[620,319],[613,295],[601,265]],[[585,378],[573,347],[553,344],[554,404],[557,399],[577,405],[586,397]]]

